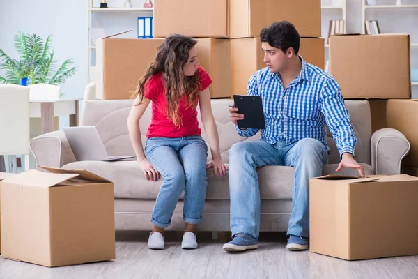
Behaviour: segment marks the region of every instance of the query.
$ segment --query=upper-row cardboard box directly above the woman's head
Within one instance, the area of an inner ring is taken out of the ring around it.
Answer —
[[[171,33],[228,38],[228,0],[158,0],[154,3],[154,37]]]

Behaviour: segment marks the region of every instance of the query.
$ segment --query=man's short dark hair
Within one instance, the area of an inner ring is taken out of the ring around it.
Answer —
[[[295,50],[295,54],[299,52],[300,35],[291,22],[274,22],[261,30],[260,37],[262,43],[268,43],[284,53],[289,47]]]

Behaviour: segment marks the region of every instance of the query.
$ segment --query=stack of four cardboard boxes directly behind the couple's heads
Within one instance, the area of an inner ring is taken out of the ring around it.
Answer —
[[[212,98],[245,94],[252,73],[265,67],[258,38],[272,22],[288,20],[302,36],[301,56],[324,68],[320,1],[316,0],[158,0],[154,39],[100,38],[97,42],[97,97],[129,98],[171,33],[198,40],[199,61],[210,77]]]

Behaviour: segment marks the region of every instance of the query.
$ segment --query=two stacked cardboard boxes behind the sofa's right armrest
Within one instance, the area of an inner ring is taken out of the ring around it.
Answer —
[[[403,172],[418,176],[418,101],[411,99],[408,34],[330,36],[330,74],[345,99],[367,99],[372,130],[394,128],[410,141]]]

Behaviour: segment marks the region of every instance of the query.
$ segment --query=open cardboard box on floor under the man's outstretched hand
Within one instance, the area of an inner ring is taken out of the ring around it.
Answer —
[[[418,255],[418,177],[310,180],[310,251],[341,259]],[[405,241],[408,240],[408,241]]]

